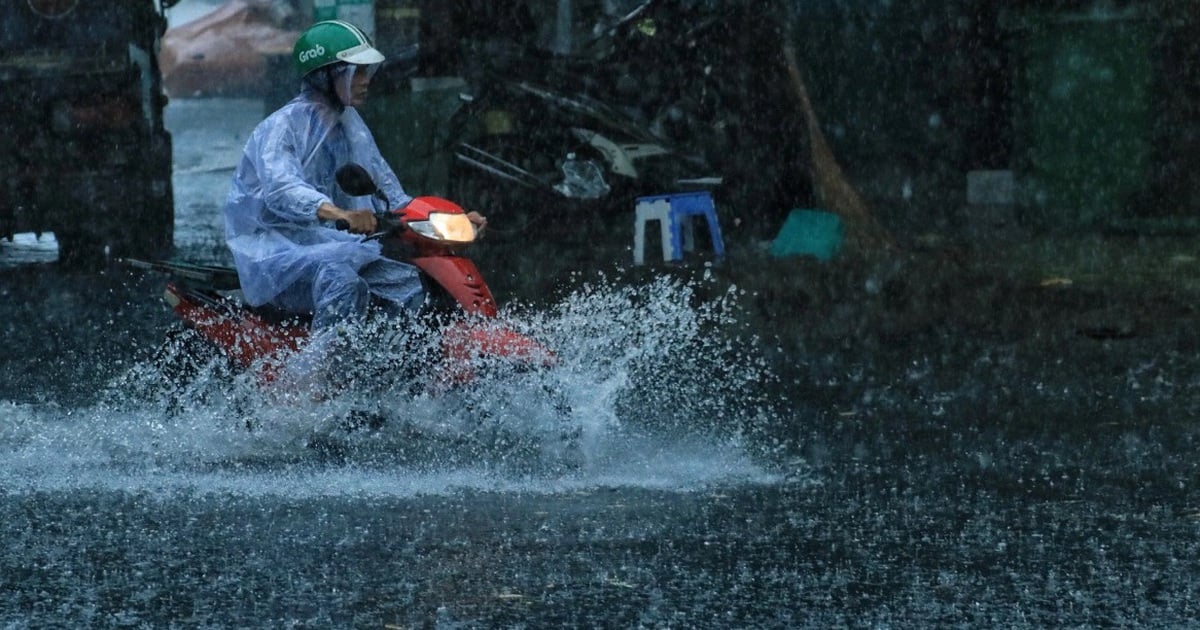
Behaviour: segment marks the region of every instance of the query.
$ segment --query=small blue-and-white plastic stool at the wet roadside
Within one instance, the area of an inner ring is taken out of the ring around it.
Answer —
[[[682,260],[684,251],[694,248],[692,218],[703,216],[708,221],[708,234],[713,239],[713,253],[725,256],[721,224],[716,221],[716,206],[707,191],[676,192],[638,197],[634,217],[634,264],[646,262],[646,223],[658,221],[662,239],[662,259]]]

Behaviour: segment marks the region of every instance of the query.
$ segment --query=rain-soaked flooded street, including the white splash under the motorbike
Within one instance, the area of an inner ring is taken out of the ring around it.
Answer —
[[[178,101],[178,253],[223,262],[251,101]],[[312,449],[343,404],[148,386],[163,278],[0,246],[0,625],[1182,626],[1200,614],[1198,348],[955,330],[806,352],[673,281],[506,313],[564,358],[432,430],[569,422],[582,462],[398,427]],[[731,298],[732,300],[732,298]],[[780,358],[775,353],[784,353]],[[763,359],[770,355],[772,360]],[[565,406],[539,404],[553,391]],[[568,409],[564,412],[564,408]],[[565,415],[565,418],[564,418]],[[254,431],[247,431],[247,420]],[[412,426],[412,425],[409,425]],[[557,426],[557,425],[556,425]]]

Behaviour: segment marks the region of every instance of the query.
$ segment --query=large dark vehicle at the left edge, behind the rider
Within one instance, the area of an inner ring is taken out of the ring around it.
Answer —
[[[175,0],[0,2],[0,238],[59,260],[164,256],[172,145],[156,59]]]

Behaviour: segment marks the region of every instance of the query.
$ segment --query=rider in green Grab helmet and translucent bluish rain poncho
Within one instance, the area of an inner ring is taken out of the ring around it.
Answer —
[[[354,162],[392,206],[412,200],[355,112],[384,55],[353,24],[326,20],[300,35],[293,58],[300,94],[254,128],[224,206],[245,299],[312,313],[313,330],[361,318],[372,301],[415,310],[424,299],[416,269],[360,236],[376,229],[374,198],[349,197],[335,179]],[[348,228],[335,229],[337,222]]]

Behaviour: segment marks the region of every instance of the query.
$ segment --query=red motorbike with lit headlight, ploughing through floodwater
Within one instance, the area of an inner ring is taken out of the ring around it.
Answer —
[[[371,176],[358,164],[337,173],[338,185],[355,197],[386,203]],[[475,264],[462,252],[476,239],[475,226],[454,202],[418,197],[403,208],[377,212],[384,252],[416,266],[426,293],[426,311],[458,311],[439,328],[442,358],[433,378],[438,389],[454,388],[475,377],[475,359],[499,360],[522,367],[547,366],[553,353],[542,343],[496,319],[491,289]],[[346,226],[338,226],[343,228]],[[173,280],[164,300],[192,336],[199,336],[228,359],[235,370],[256,370],[259,382],[277,380],[289,358],[310,336],[311,316],[252,307],[236,296],[238,274],[232,268],[175,262],[126,260],[134,268],[164,271]]]

